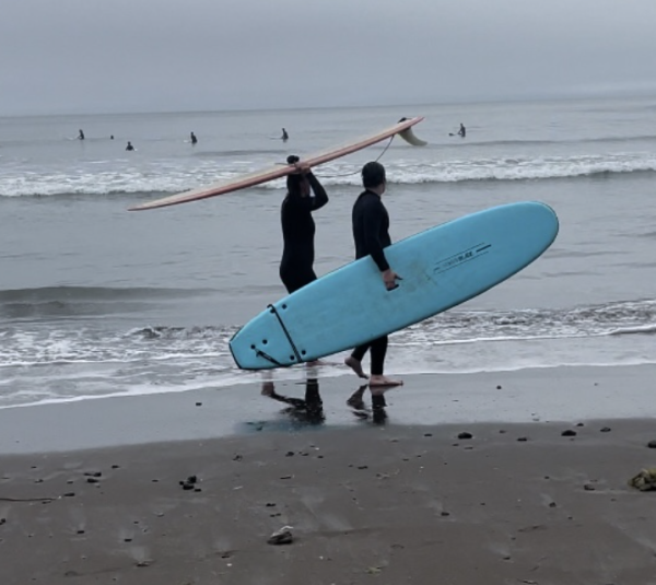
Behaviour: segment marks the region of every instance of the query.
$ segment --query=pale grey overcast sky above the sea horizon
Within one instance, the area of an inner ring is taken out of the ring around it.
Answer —
[[[0,115],[656,95],[656,0],[2,0]]]

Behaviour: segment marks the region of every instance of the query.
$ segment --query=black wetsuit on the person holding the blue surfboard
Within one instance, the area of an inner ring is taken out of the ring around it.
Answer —
[[[371,256],[378,270],[384,272],[389,265],[383,250],[391,244],[391,238],[389,237],[389,214],[380,196],[370,190],[362,192],[353,206],[352,218],[355,258]],[[371,349],[372,375],[382,376],[387,353],[387,336],[355,348],[351,356],[361,362],[368,349]]]

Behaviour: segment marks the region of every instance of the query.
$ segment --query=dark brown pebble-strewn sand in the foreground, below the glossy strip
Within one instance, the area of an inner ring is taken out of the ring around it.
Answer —
[[[653,420],[400,424],[395,391],[341,396],[351,424],[4,454],[0,583],[654,582],[656,493],[626,483]]]

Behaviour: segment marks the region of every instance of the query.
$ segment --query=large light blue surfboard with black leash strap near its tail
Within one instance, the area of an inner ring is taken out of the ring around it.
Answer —
[[[402,280],[387,291],[371,257],[277,302],[231,339],[243,370],[318,360],[472,299],[538,258],[555,239],[553,210],[526,201],[437,225],[385,248]]]

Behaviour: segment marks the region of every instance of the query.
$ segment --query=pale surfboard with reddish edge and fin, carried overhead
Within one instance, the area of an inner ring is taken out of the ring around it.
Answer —
[[[345,156],[347,154],[351,154],[359,150],[371,147],[372,144],[376,144],[377,142],[380,142],[396,134],[399,134],[409,144],[415,147],[424,145],[425,142],[417,138],[412,132],[412,127],[422,121],[423,119],[424,118],[422,116],[418,116],[414,118],[401,118],[397,124],[390,126],[389,128],[386,128],[385,130],[380,130],[373,134],[367,134],[356,140],[349,141],[345,144],[342,144],[341,147],[331,148],[315,153],[311,156],[302,159],[301,163],[306,164],[309,167],[318,166],[329,161],[333,161],[335,159],[339,159],[340,156]],[[154,201],[147,201],[144,203],[140,203],[128,208],[128,211],[144,211],[149,209],[177,206],[180,203],[189,203],[191,201],[200,201],[201,199],[208,199],[209,197],[225,195],[241,189],[246,189],[248,187],[255,187],[257,185],[261,185],[262,183],[268,183],[270,180],[282,178],[286,175],[294,173],[295,171],[296,167],[294,165],[279,164],[268,168],[256,171],[254,173],[241,175],[237,178],[224,179],[208,185],[206,187],[199,187],[197,189],[191,189],[181,194],[171,195],[168,197],[155,199]]]

